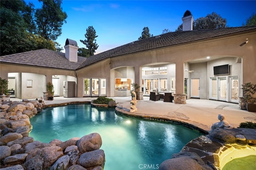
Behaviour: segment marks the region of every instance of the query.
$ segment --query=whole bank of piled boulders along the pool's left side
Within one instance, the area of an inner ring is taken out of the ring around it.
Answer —
[[[62,103],[67,104],[70,103]],[[43,107],[49,105],[43,106],[36,100],[0,103],[0,169],[102,170],[105,154],[100,149],[102,139],[98,133],[64,142],[54,139],[49,143],[29,137],[32,127],[29,119],[40,113]]]

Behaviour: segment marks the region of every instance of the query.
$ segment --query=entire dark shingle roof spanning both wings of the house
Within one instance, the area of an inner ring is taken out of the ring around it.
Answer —
[[[160,36],[154,36],[121,45],[120,47],[110,49],[88,58],[78,56],[77,63],[70,62],[68,59],[66,59],[65,53],[52,51],[49,49],[38,49],[24,53],[4,55],[0,57],[0,62],[76,70],[109,57],[116,57],[124,54],[182,44],[186,42],[193,42],[196,40],[206,40],[218,36],[240,34],[242,32],[256,32],[256,26],[169,32]]]

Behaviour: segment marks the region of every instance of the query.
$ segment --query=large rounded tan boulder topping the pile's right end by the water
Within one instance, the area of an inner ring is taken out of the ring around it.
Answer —
[[[102,139],[100,134],[91,133],[83,136],[77,141],[76,146],[78,146],[78,150],[80,153],[89,152],[92,150],[97,150],[102,145]]]

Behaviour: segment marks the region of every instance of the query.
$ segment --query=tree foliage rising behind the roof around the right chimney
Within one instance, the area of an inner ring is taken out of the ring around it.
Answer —
[[[193,22],[193,30],[205,30],[205,29],[216,29],[226,28],[227,20],[222,18],[220,15],[212,12],[207,14],[206,17],[200,17]],[[175,31],[182,31],[183,24],[180,24]]]

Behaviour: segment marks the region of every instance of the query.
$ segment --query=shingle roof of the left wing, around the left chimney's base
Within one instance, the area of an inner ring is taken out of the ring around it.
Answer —
[[[76,70],[85,60],[85,57],[78,56],[77,63],[71,62],[65,57],[65,53],[52,51],[50,49],[38,49],[0,57],[1,63],[14,63],[68,70]]]

